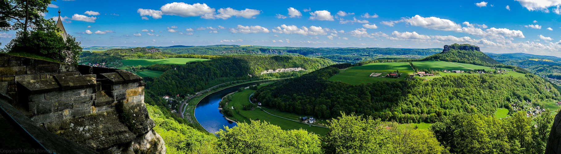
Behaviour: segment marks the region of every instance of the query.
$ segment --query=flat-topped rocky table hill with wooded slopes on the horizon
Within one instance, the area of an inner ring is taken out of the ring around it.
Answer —
[[[479,66],[493,66],[501,64],[495,59],[481,52],[478,46],[469,44],[444,45],[441,53],[430,55],[422,60],[442,60],[446,62],[458,62],[475,64]]]

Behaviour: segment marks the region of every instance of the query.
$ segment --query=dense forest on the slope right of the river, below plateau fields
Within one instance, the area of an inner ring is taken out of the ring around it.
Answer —
[[[540,101],[561,99],[553,85],[532,74],[527,78],[481,74],[361,85],[327,80],[338,71],[322,68],[261,87],[253,96],[280,111],[320,118],[341,116],[343,111],[399,123],[434,123],[456,113],[493,115],[496,108],[512,111],[509,104],[514,102],[536,106]]]

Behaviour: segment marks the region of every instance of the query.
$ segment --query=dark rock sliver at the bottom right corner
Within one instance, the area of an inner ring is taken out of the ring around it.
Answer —
[[[557,113],[549,132],[548,143],[545,146],[546,154],[561,153],[561,114]]]

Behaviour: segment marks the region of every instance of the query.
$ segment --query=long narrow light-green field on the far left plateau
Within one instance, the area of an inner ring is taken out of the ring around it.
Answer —
[[[125,66],[151,66],[153,64],[185,64],[187,62],[200,62],[209,59],[200,58],[169,58],[169,59],[127,59],[121,60]]]

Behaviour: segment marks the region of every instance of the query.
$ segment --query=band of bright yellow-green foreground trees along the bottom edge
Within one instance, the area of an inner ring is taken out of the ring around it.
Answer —
[[[534,119],[521,113],[503,119],[456,114],[417,129],[341,113],[328,120],[323,137],[258,120],[224,128],[215,137],[169,119],[157,106],[146,108],[169,153],[544,153],[553,123],[549,114]]]

